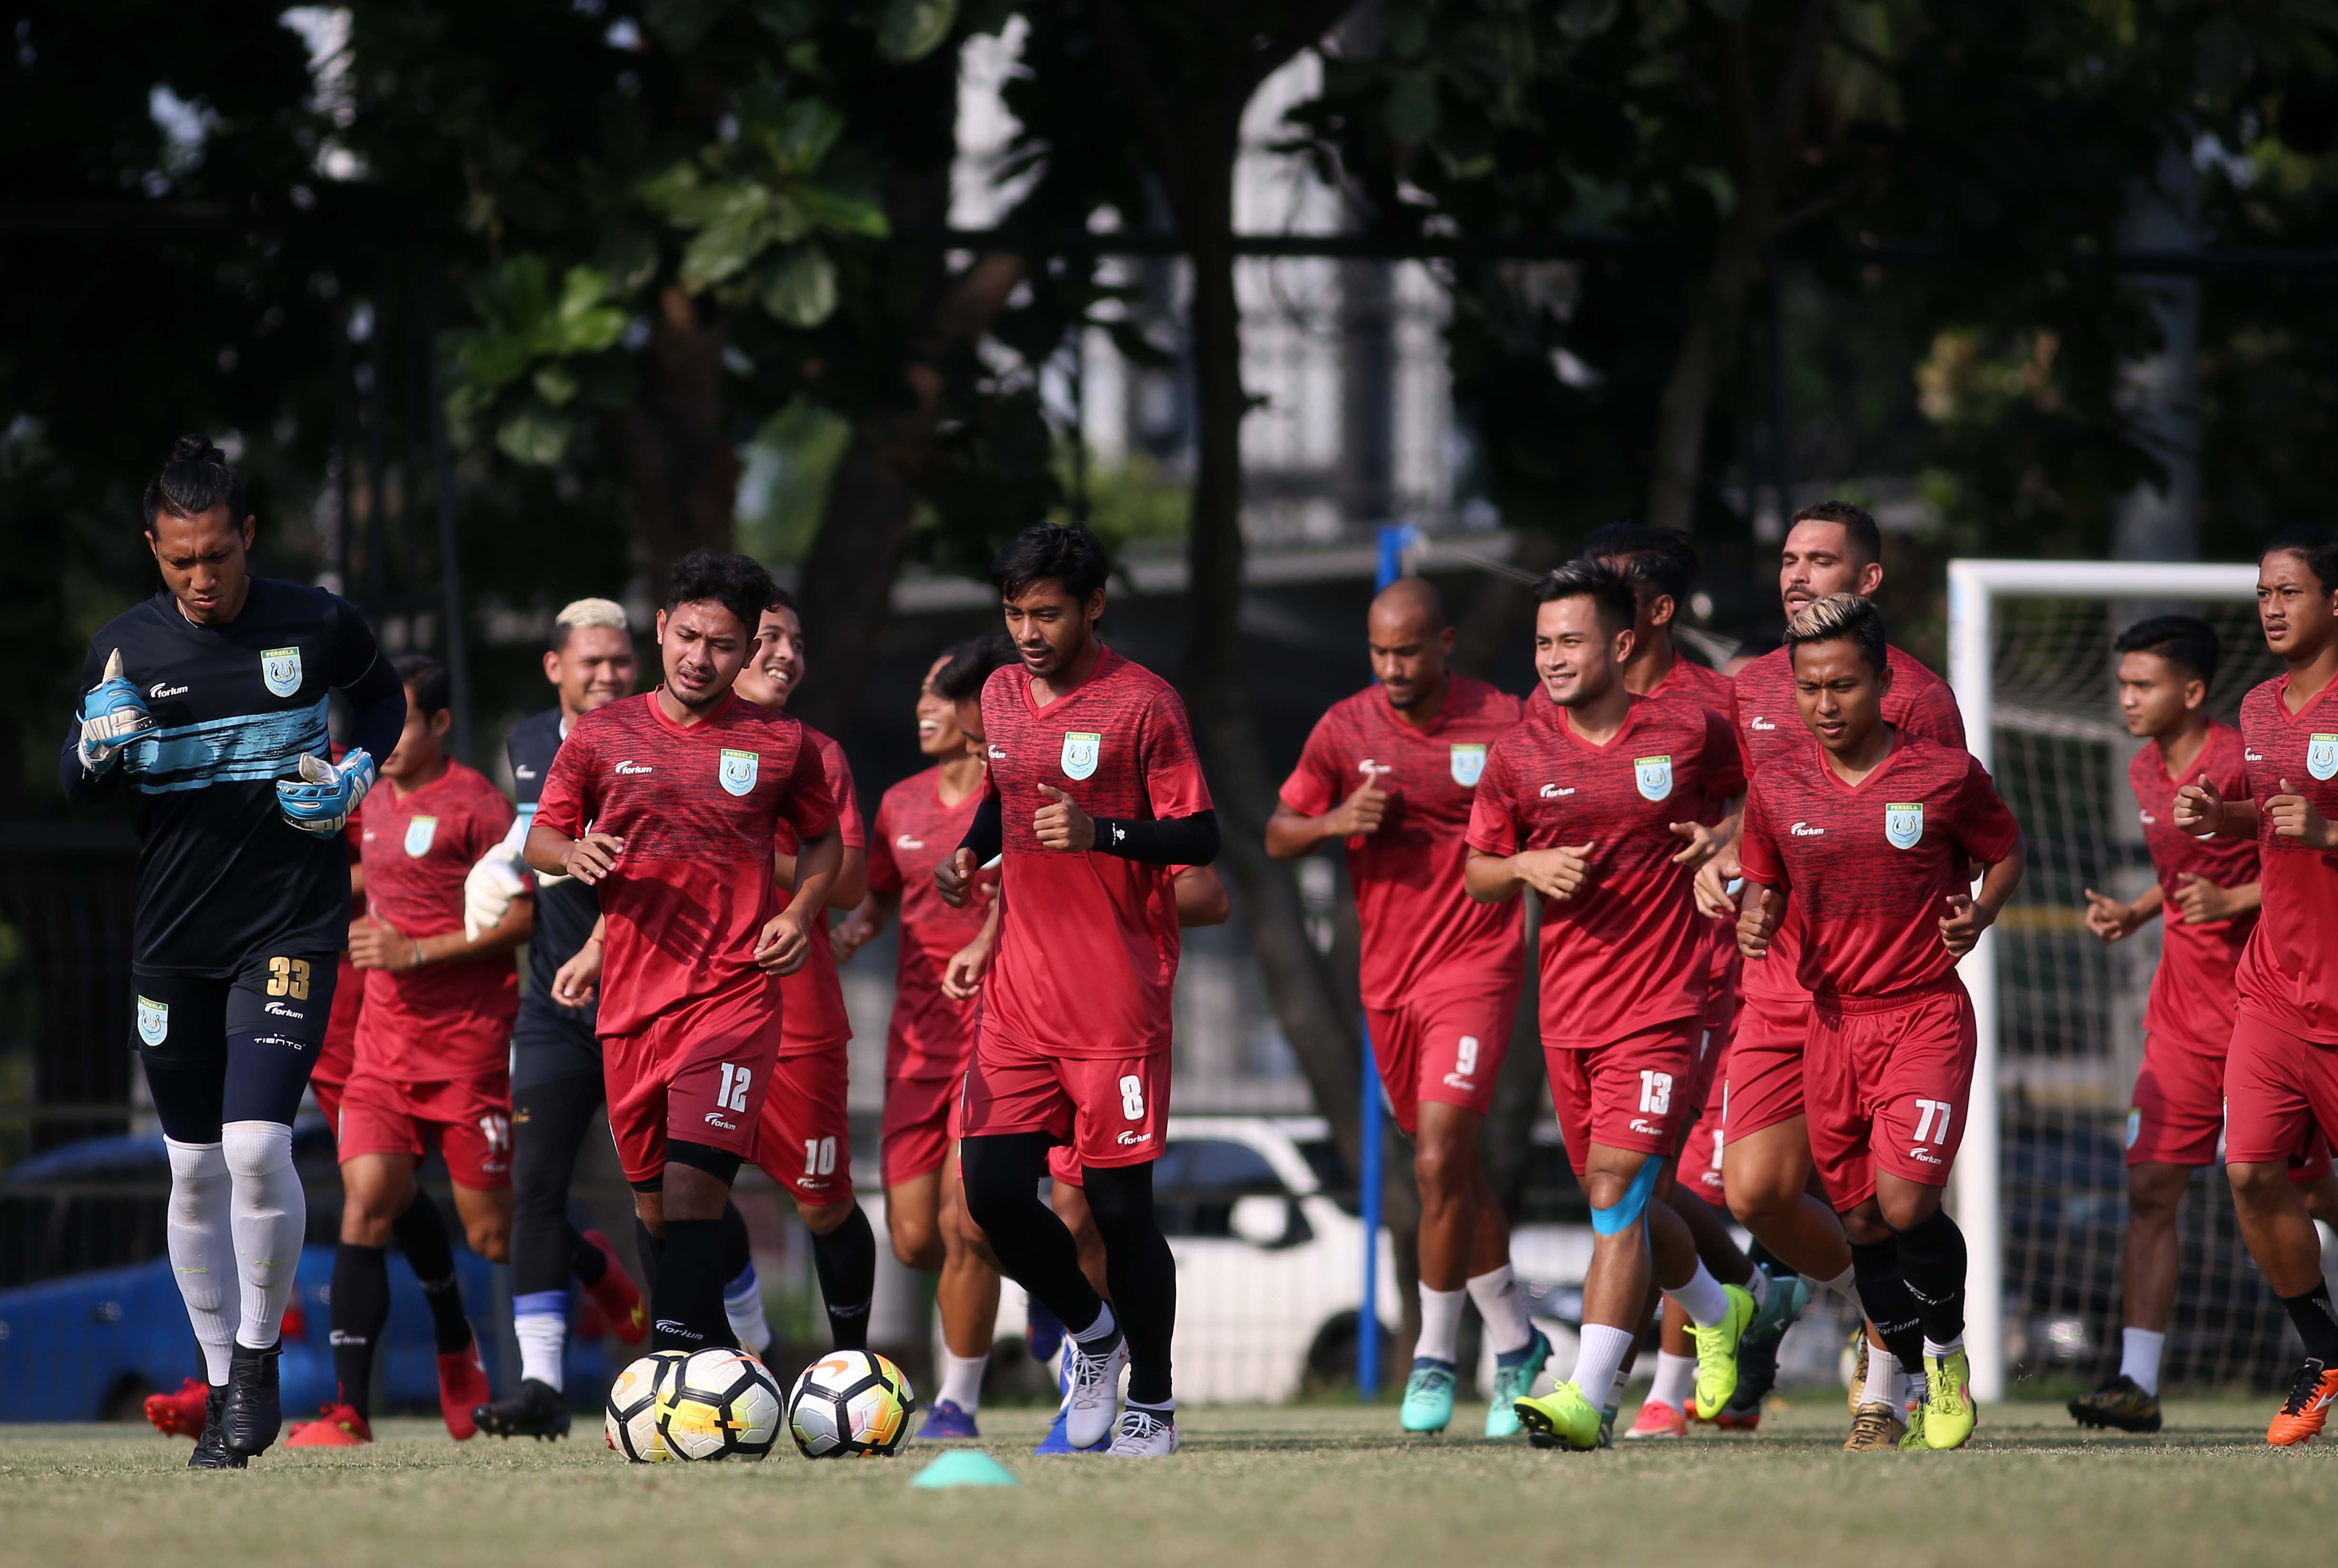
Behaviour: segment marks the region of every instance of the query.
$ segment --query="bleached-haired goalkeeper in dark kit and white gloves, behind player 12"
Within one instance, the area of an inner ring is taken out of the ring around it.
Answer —
[[[568,1222],[568,1182],[603,1091],[594,1005],[589,995],[570,1005],[559,977],[587,949],[599,958],[601,900],[573,876],[528,876],[519,853],[568,729],[634,692],[634,638],[624,608],[608,598],[563,605],[552,617],[542,666],[559,701],[514,724],[503,743],[519,816],[512,834],[472,865],[463,886],[465,930],[496,925],[524,888],[535,888],[528,977],[512,1024],[512,1330],[519,1339],[519,1386],[472,1416],[498,1437],[559,1439],[568,1432],[561,1390],[570,1274],[620,1341],[641,1344],[650,1318],[608,1236]]]

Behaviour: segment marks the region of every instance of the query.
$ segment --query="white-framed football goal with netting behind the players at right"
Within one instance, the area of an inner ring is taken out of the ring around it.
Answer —
[[[2081,918],[2085,888],[2151,886],[2111,640],[2146,615],[2207,619],[2223,643],[2209,692],[2223,720],[2277,661],[2256,626],[2254,566],[1955,561],[1948,582],[1966,738],[2029,851],[2020,893],[1964,960],[1980,1061],[1955,1206],[1973,1257],[1973,1393],[2001,1397],[2013,1379],[2090,1386],[2118,1365],[2125,1122],[2160,923],[2104,946]],[[2165,1379],[2273,1379],[2287,1325],[2219,1166],[2193,1175],[2179,1234]]]

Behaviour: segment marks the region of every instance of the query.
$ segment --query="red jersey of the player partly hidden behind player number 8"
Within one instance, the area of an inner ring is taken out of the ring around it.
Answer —
[[[870,834],[870,888],[900,893],[900,935],[893,958],[893,1028],[886,1033],[886,1080],[956,1077],[975,1049],[980,1007],[973,998],[942,995],[942,970],[982,935],[998,872],[982,872],[959,909],[942,902],[933,867],[947,860],[982,804],[980,785],[956,806],[942,804],[942,769],[912,773],[877,802]]]

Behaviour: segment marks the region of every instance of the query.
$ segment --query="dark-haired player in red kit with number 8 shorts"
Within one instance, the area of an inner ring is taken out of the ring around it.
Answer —
[[[1176,692],[1097,640],[1106,573],[1078,523],[1026,528],[991,563],[1022,661],[982,692],[982,804],[935,888],[961,904],[1005,855],[961,1110],[966,1208],[1071,1330],[1073,1446],[1111,1430],[1111,1453],[1148,1458],[1176,1451],[1176,1260],[1153,1213],[1178,958],[1169,867],[1216,860],[1218,818]],[[1111,1304],[1038,1201],[1054,1143],[1078,1150]]]

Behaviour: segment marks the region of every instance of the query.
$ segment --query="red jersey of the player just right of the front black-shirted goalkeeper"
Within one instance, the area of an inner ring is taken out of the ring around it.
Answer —
[[[463,879],[512,830],[512,802],[482,773],[449,762],[404,797],[381,780],[355,823],[367,911],[404,937],[442,937],[463,930]],[[507,1026],[519,1012],[514,953],[362,974],[365,1012],[379,1028],[360,1035],[367,1042],[360,1066],[404,1080],[468,1077],[505,1066]],[[449,1028],[491,1021],[505,1028]],[[449,1061],[449,1052],[465,1061]]]

